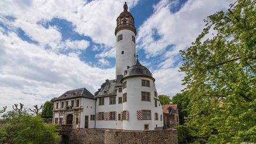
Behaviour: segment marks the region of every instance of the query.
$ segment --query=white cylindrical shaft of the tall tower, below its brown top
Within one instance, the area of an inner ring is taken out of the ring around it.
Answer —
[[[123,39],[117,42],[117,37],[121,34]],[[116,34],[116,76],[124,75],[127,66],[131,67],[135,63],[135,43],[132,42],[132,36],[135,37],[133,31],[127,29],[120,30]]]

